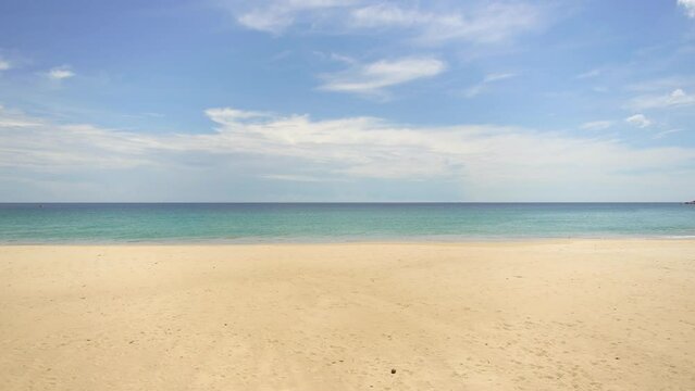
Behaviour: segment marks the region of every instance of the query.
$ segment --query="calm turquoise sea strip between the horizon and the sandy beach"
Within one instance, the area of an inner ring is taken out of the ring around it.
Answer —
[[[0,243],[695,237],[678,203],[0,204]]]

